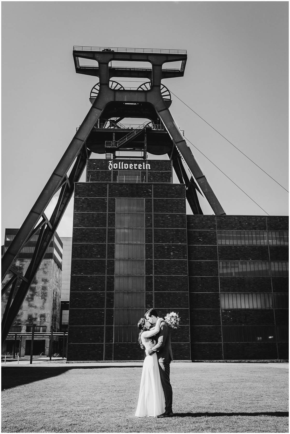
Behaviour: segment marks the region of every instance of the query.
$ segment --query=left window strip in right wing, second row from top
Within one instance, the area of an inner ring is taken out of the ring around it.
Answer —
[[[270,276],[270,263],[262,261],[220,261],[221,276]]]

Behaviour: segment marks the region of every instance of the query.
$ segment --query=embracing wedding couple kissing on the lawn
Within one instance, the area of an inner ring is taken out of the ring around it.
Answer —
[[[159,318],[155,309],[149,309],[138,322],[138,342],[145,348],[136,417],[157,416],[169,418],[172,413],[170,362],[173,360],[170,327]]]

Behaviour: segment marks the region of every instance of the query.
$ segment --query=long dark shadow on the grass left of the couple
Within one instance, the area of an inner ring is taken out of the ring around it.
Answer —
[[[142,368],[140,365],[125,366],[7,366],[2,369],[1,390],[11,389],[62,375],[72,369],[112,369],[112,368]]]

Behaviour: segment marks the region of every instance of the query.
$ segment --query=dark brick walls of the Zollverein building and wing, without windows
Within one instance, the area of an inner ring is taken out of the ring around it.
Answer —
[[[134,184],[120,182],[124,169],[119,160],[111,163],[116,167],[109,169],[108,160],[88,160],[86,183],[75,186],[67,360],[144,357],[137,342],[114,340],[119,197],[145,201],[145,309],[155,307],[160,316],[179,312],[181,326],[171,332],[176,360],[287,358],[283,327],[288,311],[275,304],[277,297],[288,293],[287,277],[271,271],[263,276],[221,273],[221,263],[286,262],[287,247],[218,243],[218,231],[287,231],[287,217],[187,216],[185,186],[171,184],[171,161],[127,160],[137,167],[142,164],[142,182]],[[256,309],[223,307],[228,294],[238,299],[244,293],[253,294],[255,300],[265,293],[274,304]],[[265,335],[267,342],[262,334],[258,342],[253,336],[245,338],[246,333],[260,330],[257,327],[270,335]],[[238,330],[243,338],[237,339]],[[231,333],[235,342],[228,342]]]

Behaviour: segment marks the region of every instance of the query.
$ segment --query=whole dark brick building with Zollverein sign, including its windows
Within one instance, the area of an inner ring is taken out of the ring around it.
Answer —
[[[186,215],[170,160],[88,160],[67,360],[142,360],[136,324],[150,307],[181,316],[175,360],[287,358],[287,246],[287,217]]]

